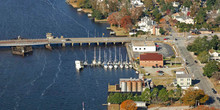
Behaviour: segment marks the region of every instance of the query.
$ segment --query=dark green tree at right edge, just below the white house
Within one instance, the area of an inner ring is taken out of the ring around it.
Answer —
[[[203,67],[204,75],[211,77],[213,72],[219,71],[218,68],[218,62],[217,61],[210,61],[208,62],[205,67]]]

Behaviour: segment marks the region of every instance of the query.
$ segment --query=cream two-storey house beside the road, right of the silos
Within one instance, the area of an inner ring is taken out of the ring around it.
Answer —
[[[176,84],[181,87],[189,87],[192,85],[192,76],[190,74],[186,74],[185,72],[176,74]]]

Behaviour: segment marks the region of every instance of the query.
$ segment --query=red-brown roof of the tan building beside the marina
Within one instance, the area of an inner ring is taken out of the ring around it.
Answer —
[[[144,53],[140,55],[140,60],[145,61],[163,61],[163,55],[159,53]]]

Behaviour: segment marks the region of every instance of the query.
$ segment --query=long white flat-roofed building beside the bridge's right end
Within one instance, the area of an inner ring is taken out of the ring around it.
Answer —
[[[134,52],[155,52],[156,46],[153,41],[133,40],[132,49]]]

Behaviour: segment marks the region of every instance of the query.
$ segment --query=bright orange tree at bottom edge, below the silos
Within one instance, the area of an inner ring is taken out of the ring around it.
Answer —
[[[121,110],[137,110],[136,103],[133,100],[125,100],[120,106]]]

